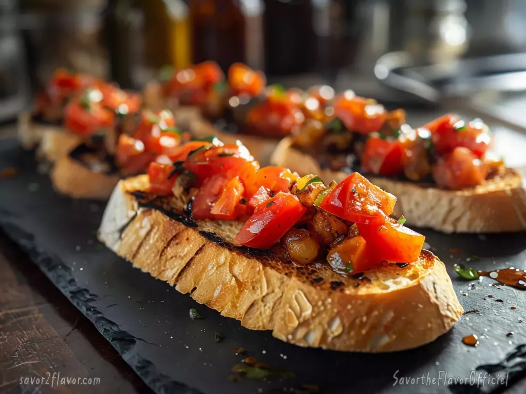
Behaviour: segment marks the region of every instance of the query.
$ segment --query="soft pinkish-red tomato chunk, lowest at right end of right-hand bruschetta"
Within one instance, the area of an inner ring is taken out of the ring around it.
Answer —
[[[443,188],[463,189],[480,185],[488,173],[487,165],[468,148],[455,148],[433,165],[433,179]]]

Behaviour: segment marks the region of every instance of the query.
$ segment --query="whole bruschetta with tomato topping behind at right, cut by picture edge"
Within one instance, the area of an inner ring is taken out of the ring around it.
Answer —
[[[526,230],[526,190],[518,171],[489,152],[480,119],[445,115],[417,129],[402,110],[387,112],[345,92],[326,122],[308,120],[280,141],[271,163],[340,180],[359,170],[399,198],[410,225],[470,233]]]

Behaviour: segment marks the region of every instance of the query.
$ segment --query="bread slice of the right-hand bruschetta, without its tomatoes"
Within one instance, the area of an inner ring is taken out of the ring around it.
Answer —
[[[321,170],[311,155],[292,147],[284,138],[272,154],[271,164],[300,175],[318,174],[341,181],[344,171]],[[433,184],[404,182],[368,175],[381,189],[397,196],[395,214],[408,225],[431,227],[444,233],[499,233],[526,230],[526,189],[520,173],[506,169],[484,184],[463,190],[439,189]]]

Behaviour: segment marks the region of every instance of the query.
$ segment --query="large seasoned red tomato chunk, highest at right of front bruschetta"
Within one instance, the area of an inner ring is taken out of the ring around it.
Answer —
[[[395,203],[395,196],[354,172],[323,198],[319,208],[354,223],[372,223],[393,213]]]

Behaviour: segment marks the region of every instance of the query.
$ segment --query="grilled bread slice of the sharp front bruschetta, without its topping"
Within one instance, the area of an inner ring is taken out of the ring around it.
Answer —
[[[292,344],[344,351],[414,348],[446,333],[462,314],[443,263],[422,251],[400,268],[386,264],[344,277],[321,261],[299,265],[279,244],[235,244],[243,225],[193,221],[185,199],[149,195],[148,177],[120,181],[99,240],[152,276],[221,315]]]

